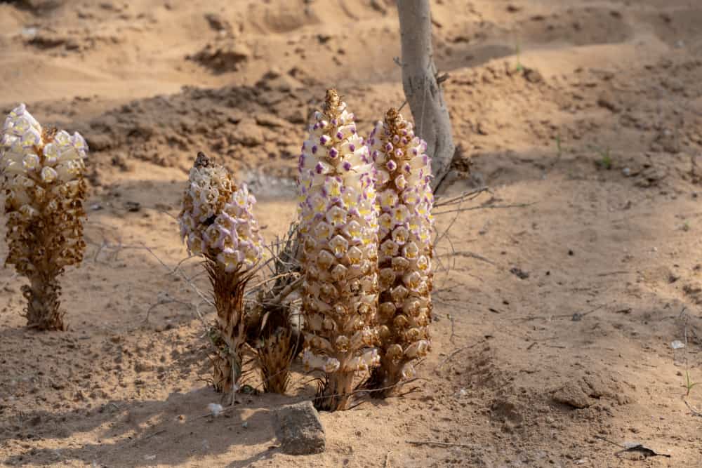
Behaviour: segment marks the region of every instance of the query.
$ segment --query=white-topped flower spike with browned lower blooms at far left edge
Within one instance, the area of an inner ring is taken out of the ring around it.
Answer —
[[[27,326],[65,330],[58,275],[83,260],[84,158],[78,133],[46,131],[20,104],[0,134],[0,180],[6,194],[6,265],[27,276]]]

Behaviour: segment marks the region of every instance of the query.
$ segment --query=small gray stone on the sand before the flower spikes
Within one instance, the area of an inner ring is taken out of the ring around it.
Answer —
[[[326,448],[324,427],[312,401],[278,408],[273,413],[273,426],[283,453],[310,455]]]

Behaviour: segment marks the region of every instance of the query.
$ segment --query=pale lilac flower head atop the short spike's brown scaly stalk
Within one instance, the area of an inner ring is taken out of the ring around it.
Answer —
[[[254,204],[246,184],[237,187],[226,168],[199,153],[178,216],[188,251],[204,255],[225,272],[250,270],[264,255]]]

